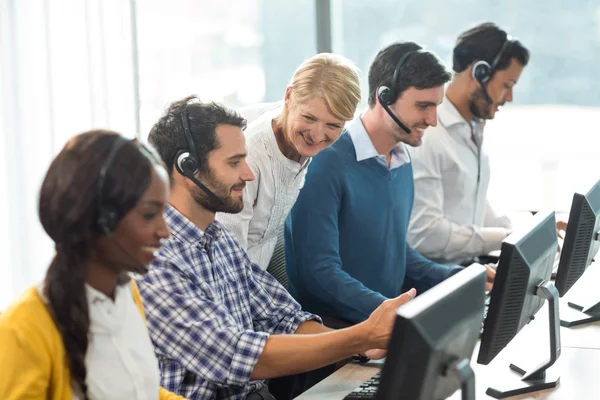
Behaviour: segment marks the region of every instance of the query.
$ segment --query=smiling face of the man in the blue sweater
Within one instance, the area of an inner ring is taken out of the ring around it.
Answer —
[[[402,92],[390,109],[410,129],[410,134],[385,114],[384,118],[394,141],[404,142],[412,147],[420,146],[425,129],[437,125],[437,106],[442,103],[443,98],[443,85],[430,89],[410,87]]]

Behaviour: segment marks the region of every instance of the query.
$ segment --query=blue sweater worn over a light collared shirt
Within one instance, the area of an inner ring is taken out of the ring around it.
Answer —
[[[421,293],[460,270],[406,243],[412,173],[357,162],[345,131],[312,160],[285,224],[288,289],[305,310],[361,322],[403,287]]]

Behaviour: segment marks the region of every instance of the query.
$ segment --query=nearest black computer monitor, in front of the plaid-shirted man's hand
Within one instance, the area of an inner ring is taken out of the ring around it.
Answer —
[[[486,271],[473,265],[397,310],[378,400],[475,399],[470,360],[485,304]]]

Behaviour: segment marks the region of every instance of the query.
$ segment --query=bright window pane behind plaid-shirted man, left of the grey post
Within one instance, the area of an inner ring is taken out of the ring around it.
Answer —
[[[189,94],[234,108],[283,98],[315,54],[314,14],[312,0],[138,2],[142,137]]]

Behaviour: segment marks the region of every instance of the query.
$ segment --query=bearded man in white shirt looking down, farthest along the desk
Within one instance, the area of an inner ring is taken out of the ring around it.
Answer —
[[[462,33],[453,55],[454,77],[438,107],[438,124],[411,150],[415,204],[408,242],[439,262],[469,263],[499,250],[511,221],[487,201],[485,121],[513,100],[529,52],[505,31],[483,23]]]

